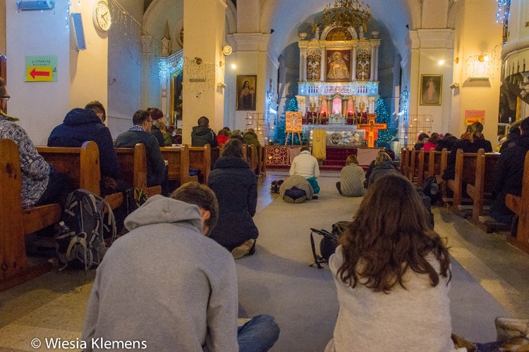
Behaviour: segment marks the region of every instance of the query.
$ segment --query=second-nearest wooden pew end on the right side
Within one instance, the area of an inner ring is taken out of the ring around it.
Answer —
[[[466,186],[468,196],[473,200],[472,220],[476,226],[485,232],[492,230],[504,230],[505,225],[487,216],[490,209],[494,191],[494,170],[498,163],[499,154],[485,153],[483,149],[478,151],[475,168],[475,182]]]

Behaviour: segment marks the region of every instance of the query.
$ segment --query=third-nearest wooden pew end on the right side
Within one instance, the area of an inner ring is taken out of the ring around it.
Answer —
[[[475,183],[475,170],[476,170],[476,160],[478,158],[478,153],[463,153],[463,149],[458,149],[456,151],[456,166],[455,166],[455,176],[454,180],[447,180],[446,185],[449,189],[454,192],[454,197],[452,199],[452,208],[451,210],[466,217],[467,212],[470,212],[472,207],[463,206],[463,201],[466,203],[471,203],[471,199],[463,199],[463,184],[474,184]]]

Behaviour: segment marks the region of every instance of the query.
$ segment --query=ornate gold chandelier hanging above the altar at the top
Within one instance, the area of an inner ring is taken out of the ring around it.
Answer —
[[[336,27],[358,28],[365,26],[370,19],[369,5],[360,4],[358,0],[336,0],[333,8],[329,4],[323,10],[324,27],[335,25]]]

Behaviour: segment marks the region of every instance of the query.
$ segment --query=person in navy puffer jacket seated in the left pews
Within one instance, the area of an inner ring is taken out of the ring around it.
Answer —
[[[61,125],[54,128],[48,138],[48,146],[71,146],[79,148],[86,141],[94,141],[99,147],[99,165],[102,176],[102,194],[111,193],[104,187],[104,179],[118,179],[118,156],[110,130],[104,125],[107,119],[102,103],[92,101],[85,108],[74,108],[66,114]],[[109,183],[109,182],[107,182]],[[115,189],[113,190],[115,191]]]

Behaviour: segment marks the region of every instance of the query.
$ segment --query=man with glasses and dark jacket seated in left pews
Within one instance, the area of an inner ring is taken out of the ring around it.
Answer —
[[[162,186],[162,195],[169,196],[169,179],[158,140],[151,132],[152,118],[145,110],[133,115],[133,127],[116,138],[117,148],[134,148],[138,143],[145,145],[147,154],[147,187]]]

